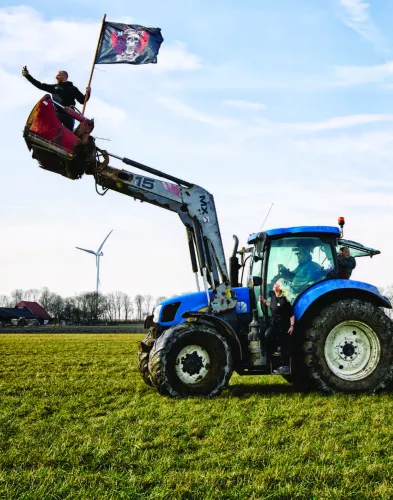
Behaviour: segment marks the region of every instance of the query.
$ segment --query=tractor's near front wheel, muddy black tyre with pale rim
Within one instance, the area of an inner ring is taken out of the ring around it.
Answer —
[[[184,323],[170,328],[156,341],[149,372],[160,394],[217,396],[232,375],[231,350],[214,328]]]

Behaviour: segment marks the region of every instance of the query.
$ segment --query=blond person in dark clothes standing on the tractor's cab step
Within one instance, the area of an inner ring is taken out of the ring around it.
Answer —
[[[278,346],[281,347],[282,366],[274,370],[276,375],[286,375],[289,370],[289,335],[292,335],[295,327],[295,316],[293,307],[285,296],[284,280],[279,279],[273,285],[273,293],[270,300],[266,300],[262,295],[260,302],[270,307],[272,312],[272,322],[265,332],[266,348],[271,356]]]

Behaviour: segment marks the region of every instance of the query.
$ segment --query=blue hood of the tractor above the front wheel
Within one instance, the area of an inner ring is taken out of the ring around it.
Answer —
[[[250,312],[250,290],[247,287],[236,287],[233,289],[237,297],[236,313],[245,314]],[[213,293],[210,291],[210,298]],[[207,310],[207,296],[205,292],[187,293],[178,297],[159,302],[153,311],[153,321],[160,326],[172,326],[184,323],[183,313],[187,311]]]

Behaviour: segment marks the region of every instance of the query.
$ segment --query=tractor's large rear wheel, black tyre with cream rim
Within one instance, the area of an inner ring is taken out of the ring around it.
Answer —
[[[393,323],[360,300],[341,300],[314,318],[305,332],[311,380],[323,392],[377,392],[393,376]]]

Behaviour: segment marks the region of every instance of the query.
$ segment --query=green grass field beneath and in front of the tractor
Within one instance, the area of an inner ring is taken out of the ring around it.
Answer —
[[[140,335],[0,335],[1,499],[393,498],[393,396],[142,382]]]

